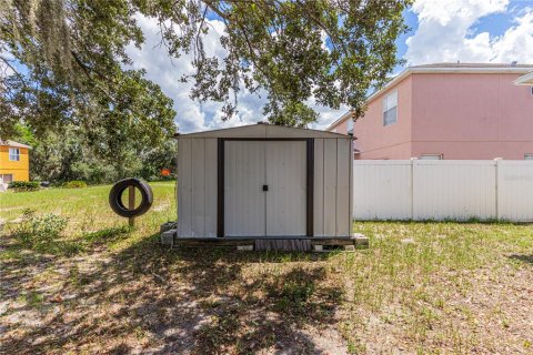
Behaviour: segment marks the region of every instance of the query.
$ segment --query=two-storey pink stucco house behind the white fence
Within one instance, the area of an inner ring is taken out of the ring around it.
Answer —
[[[355,159],[533,159],[533,88],[515,83],[532,71],[516,63],[410,67],[368,99],[364,116],[349,112],[328,130],[353,130]]]

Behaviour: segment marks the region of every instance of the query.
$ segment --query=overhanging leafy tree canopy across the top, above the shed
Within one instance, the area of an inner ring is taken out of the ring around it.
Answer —
[[[120,93],[132,85],[125,47],[143,42],[137,13],[159,21],[169,55],[194,53],[195,73],[183,78],[194,83],[191,97],[223,102],[225,119],[235,114],[240,90],[265,91],[264,113],[278,124],[316,120],[304,103],[310,98],[335,109],[346,104],[361,115],[368,90],[383,85],[398,64],[394,40],[406,29],[402,11],[410,2],[2,0],[0,134],[19,116],[37,130],[64,122],[111,124],[110,111],[128,103]],[[213,18],[225,26],[222,60],[203,47]],[[144,121],[142,112],[134,116]],[[148,122],[167,126],[147,134],[168,129],[167,116]]]

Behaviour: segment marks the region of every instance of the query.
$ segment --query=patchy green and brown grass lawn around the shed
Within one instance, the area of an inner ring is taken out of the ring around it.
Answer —
[[[168,251],[174,186],[137,227],[110,186],[0,194],[0,354],[533,353],[533,226],[355,223],[355,253]],[[24,209],[69,219],[39,248]],[[14,220],[14,221],[13,221]]]

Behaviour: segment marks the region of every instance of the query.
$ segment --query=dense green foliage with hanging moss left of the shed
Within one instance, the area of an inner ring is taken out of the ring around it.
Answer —
[[[129,6],[2,2],[0,62],[11,70],[0,75],[0,136],[23,138],[23,122],[41,143],[46,179],[76,179],[63,164],[104,155],[123,176],[138,146],[159,146],[177,130],[172,100],[144,71],[125,69],[125,47],[142,42]]]

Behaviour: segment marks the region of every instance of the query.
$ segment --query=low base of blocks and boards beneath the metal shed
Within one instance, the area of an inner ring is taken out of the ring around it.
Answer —
[[[185,237],[178,236],[178,231],[175,229],[167,230],[161,232],[161,244],[170,247],[180,247],[180,246],[192,246],[192,247],[210,247],[210,246],[232,246],[241,251],[250,251],[253,246],[253,250],[258,250],[258,245],[264,245],[265,242],[272,242],[272,248],[269,250],[286,250],[282,246],[276,247],[275,245],[281,245],[283,243],[276,242],[289,242],[285,244],[298,244],[298,242],[309,243],[311,245],[311,251],[315,252],[325,252],[338,250],[335,246],[341,247],[341,250],[355,250],[355,248],[366,248],[369,247],[369,239],[360,233],[354,233],[353,235],[346,236],[224,236],[224,237]],[[296,243],[291,243],[296,242]],[[241,247],[239,247],[241,246]],[[242,247],[245,246],[245,247]],[[299,251],[302,251],[301,248]]]

